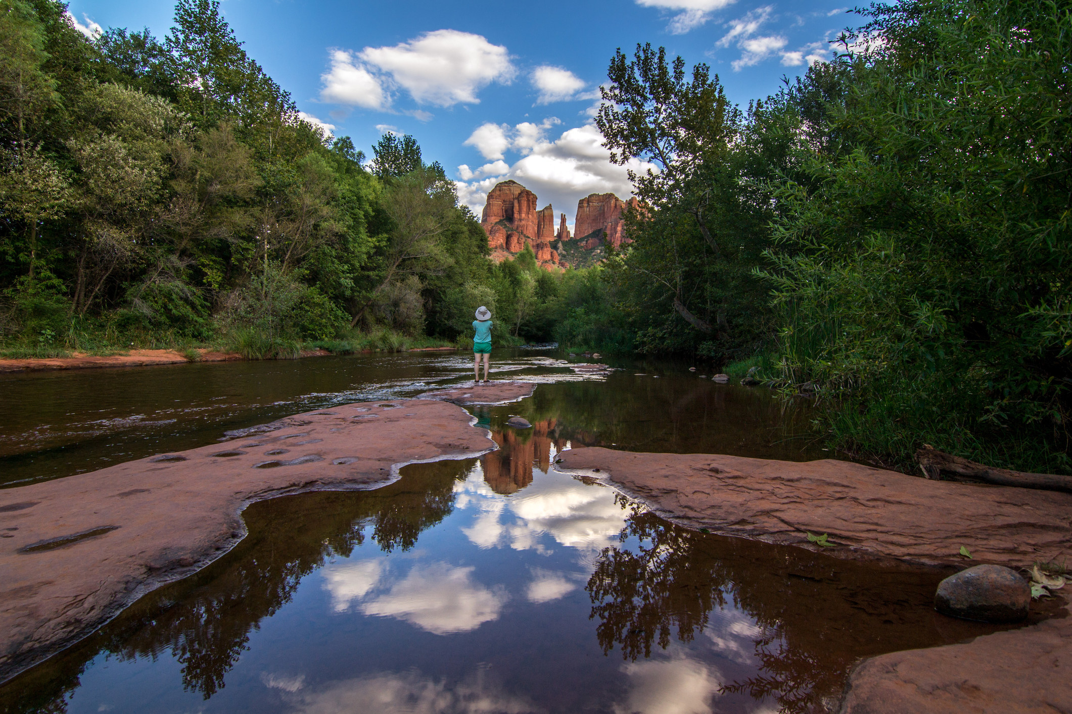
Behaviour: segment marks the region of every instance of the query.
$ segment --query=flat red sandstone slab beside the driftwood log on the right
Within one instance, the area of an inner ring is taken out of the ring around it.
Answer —
[[[600,469],[660,515],[690,528],[813,550],[828,533],[839,558],[1012,567],[1072,555],[1072,495],[928,481],[859,464],[712,454],[562,453],[566,469]]]

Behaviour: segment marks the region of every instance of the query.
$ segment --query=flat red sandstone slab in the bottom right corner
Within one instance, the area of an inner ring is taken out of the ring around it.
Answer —
[[[865,659],[842,714],[1072,712],[1072,619]]]

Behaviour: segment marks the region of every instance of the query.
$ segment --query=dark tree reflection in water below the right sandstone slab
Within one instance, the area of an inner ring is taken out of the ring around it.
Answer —
[[[723,690],[771,697],[786,712],[827,711],[860,657],[994,632],[934,613],[937,573],[705,535],[639,512],[622,531],[629,536],[640,546],[606,548],[586,587],[604,652],[617,645],[637,659],[653,644],[667,648],[672,635],[691,641],[711,611],[730,603],[759,627],[760,671]]]

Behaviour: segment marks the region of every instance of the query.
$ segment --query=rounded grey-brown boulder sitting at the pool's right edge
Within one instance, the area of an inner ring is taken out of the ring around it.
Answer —
[[[935,609],[980,622],[1019,622],[1027,617],[1031,587],[1003,565],[976,565],[938,583]]]

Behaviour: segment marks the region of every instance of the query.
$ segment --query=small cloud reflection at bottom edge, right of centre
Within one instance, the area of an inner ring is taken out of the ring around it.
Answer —
[[[649,659],[622,666],[629,694],[616,714],[710,714],[721,686],[717,670],[688,657]]]

